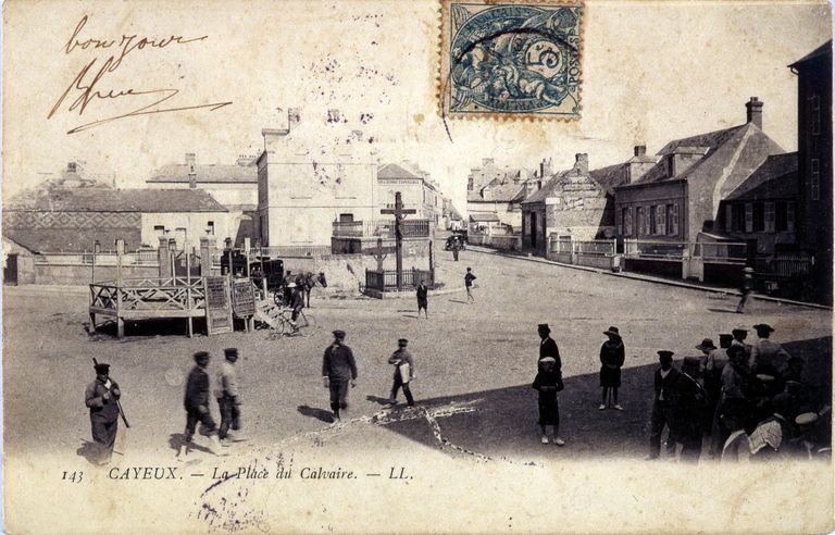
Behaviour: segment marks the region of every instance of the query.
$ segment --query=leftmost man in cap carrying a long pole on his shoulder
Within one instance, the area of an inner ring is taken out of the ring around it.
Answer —
[[[107,464],[113,455],[119,431],[119,385],[110,378],[110,364],[96,364],[96,381],[87,386],[85,405],[90,409],[92,440],[97,446],[97,463]]]

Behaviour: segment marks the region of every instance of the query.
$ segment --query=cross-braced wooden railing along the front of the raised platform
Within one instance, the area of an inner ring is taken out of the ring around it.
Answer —
[[[90,284],[90,307],[114,311],[189,311],[204,308],[201,277],[135,278]]]

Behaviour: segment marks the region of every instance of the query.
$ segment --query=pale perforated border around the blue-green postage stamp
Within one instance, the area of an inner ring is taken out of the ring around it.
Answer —
[[[444,99],[446,98],[446,85],[448,73],[451,69],[449,64],[449,54],[445,53],[445,50],[449,46],[449,38],[445,28],[449,21],[449,5],[453,0],[440,0],[439,13],[436,17],[437,33],[438,33],[438,48],[436,62],[438,69],[435,74],[435,100],[437,103],[437,113],[441,120],[451,119],[456,121],[498,121],[498,122],[564,122],[573,123],[579,121],[583,117],[583,45],[584,33],[586,24],[586,2],[585,0],[469,0],[472,3],[482,3],[484,5],[510,5],[510,4],[527,4],[527,5],[546,5],[546,7],[575,7],[581,8],[579,24],[578,24],[578,39],[577,39],[577,61],[579,62],[579,77],[577,78],[577,97],[578,97],[578,110],[576,115],[549,115],[545,113],[522,113],[522,112],[497,112],[485,111],[478,113],[457,113],[450,112],[446,109]]]

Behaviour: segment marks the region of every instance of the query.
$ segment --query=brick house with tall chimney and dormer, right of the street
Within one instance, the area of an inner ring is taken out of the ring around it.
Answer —
[[[721,201],[769,155],[785,152],[762,130],[763,103],[746,103],[747,120],[731,128],[675,139],[651,166],[639,162],[614,187],[619,238],[688,242],[708,239]],[[637,155],[637,154],[636,154]],[[647,166],[644,173],[640,166]]]

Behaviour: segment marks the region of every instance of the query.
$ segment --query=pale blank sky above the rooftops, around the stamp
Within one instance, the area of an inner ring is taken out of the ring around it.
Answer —
[[[120,187],[141,187],[186,152],[198,163],[234,163],[260,153],[262,128],[283,126],[289,108],[300,109],[314,148],[329,144],[327,110],[339,109],[342,126],[363,130],[381,163],[416,162],[461,210],[469,170],[483,158],[525,167],[551,158],[561,170],[585,152],[591,169],[605,166],[627,160],[635,145],[655,153],[670,139],[740,124],[753,96],[764,101],[764,130],[790,151],[797,79],[787,65],[831,38],[830,7],[821,2],[589,0],[581,120],[445,126],[434,1],[47,3],[4,9],[4,199],[73,160],[115,174]],[[123,36],[134,35],[128,46],[142,37],[158,46],[135,47],[120,61]],[[180,39],[161,42],[171,36]],[[91,62],[84,79],[92,78],[111,57],[96,85],[102,95],[165,91],[94,98],[79,113],[74,79]],[[170,89],[178,92],[162,107],[230,103],[67,134]]]

